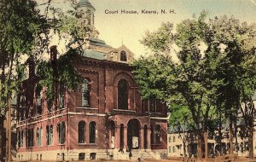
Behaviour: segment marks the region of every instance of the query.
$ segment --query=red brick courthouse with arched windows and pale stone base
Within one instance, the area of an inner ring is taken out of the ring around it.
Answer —
[[[97,38],[91,3],[81,0],[77,11],[94,29],[84,41],[83,55],[73,61],[84,82],[77,91],[60,93],[53,107],[46,88],[31,86],[36,77],[30,71],[18,97],[16,159],[159,158],[166,153],[166,105],[141,100],[129,65],[132,52]],[[53,47],[51,55],[55,52]],[[30,63],[31,69],[34,66]]]

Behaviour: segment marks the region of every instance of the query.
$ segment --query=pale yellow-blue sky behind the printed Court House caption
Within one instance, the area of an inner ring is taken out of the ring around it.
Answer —
[[[44,1],[44,0],[39,0]],[[182,20],[207,10],[210,18],[220,15],[234,16],[248,23],[256,22],[256,0],[89,0],[95,7],[95,26],[99,38],[114,48],[122,44],[138,57],[148,52],[139,40],[146,31],[154,32],[162,22],[170,21],[174,27]],[[67,3],[54,0],[55,5],[67,9]],[[106,14],[106,10],[118,14]],[[120,11],[136,10],[138,14],[121,14]],[[155,10],[158,14],[142,14],[142,10]],[[165,9],[167,14],[160,14]],[[176,14],[170,14],[170,9]]]

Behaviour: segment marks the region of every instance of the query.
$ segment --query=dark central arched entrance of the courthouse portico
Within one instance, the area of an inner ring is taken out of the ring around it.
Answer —
[[[131,119],[129,120],[127,126],[128,148],[138,149],[140,146],[140,122],[137,119]]]

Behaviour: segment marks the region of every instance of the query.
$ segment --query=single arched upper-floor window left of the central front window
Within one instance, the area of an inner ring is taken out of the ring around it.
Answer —
[[[90,107],[90,79],[85,78],[82,83],[82,107]]]

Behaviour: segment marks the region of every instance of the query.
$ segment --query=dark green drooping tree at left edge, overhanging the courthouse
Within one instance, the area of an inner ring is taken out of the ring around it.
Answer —
[[[59,33],[60,38],[62,33],[69,32],[73,38],[77,39],[81,34],[86,33],[84,30],[86,26],[76,26],[79,23],[78,19],[66,16],[61,9],[53,8],[51,2],[49,0],[47,3],[40,4],[46,5],[44,13],[39,11],[38,3],[33,0],[3,0],[0,2],[0,130],[3,130],[3,121],[6,119],[6,112],[9,108],[7,105],[11,96],[19,94],[20,84],[26,79],[28,62],[32,61],[40,65],[38,68],[40,85],[52,84],[49,78],[43,79],[42,77],[44,74],[49,77],[47,74],[51,70],[49,63],[42,61],[41,56],[49,52],[50,31],[53,31],[53,34]],[[70,2],[75,5],[73,0]],[[58,69],[61,71],[58,79],[60,82],[65,82],[65,85],[71,89],[78,86],[79,82],[79,72],[73,68],[70,60],[76,56],[73,55],[74,51],[68,50],[67,55],[61,56],[58,60]],[[60,63],[65,66],[60,66]],[[43,72],[44,70],[46,71]],[[33,79],[37,78],[33,77]],[[5,142],[3,137],[4,132],[1,131],[0,161],[3,160],[3,154],[5,154],[3,153],[3,142]]]

